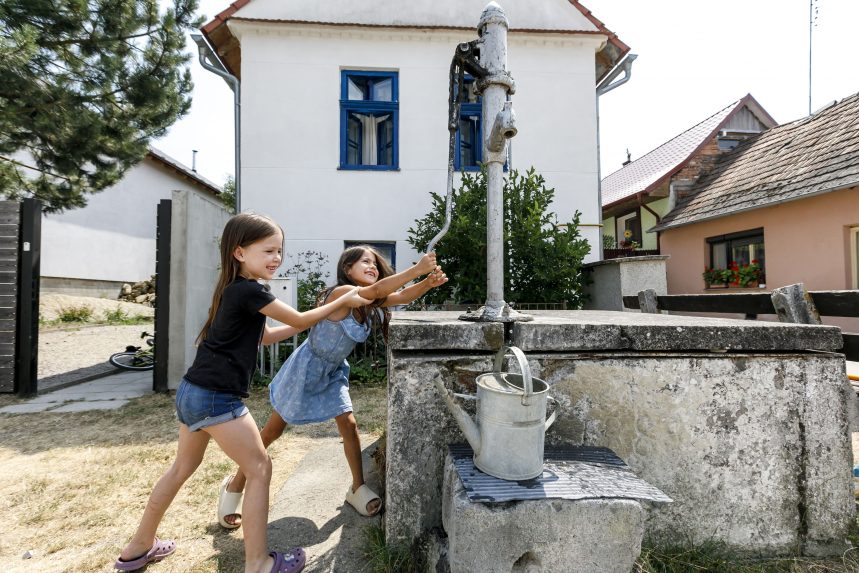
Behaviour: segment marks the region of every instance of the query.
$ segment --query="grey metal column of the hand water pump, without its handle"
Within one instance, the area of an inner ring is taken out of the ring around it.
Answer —
[[[483,162],[486,164],[486,303],[463,320],[514,322],[532,317],[504,302],[504,162],[507,140],[516,135],[516,118],[507,95],[515,91],[507,72],[507,30],[504,10],[495,2],[483,9],[478,24],[480,65],[487,76],[478,82],[483,98]]]

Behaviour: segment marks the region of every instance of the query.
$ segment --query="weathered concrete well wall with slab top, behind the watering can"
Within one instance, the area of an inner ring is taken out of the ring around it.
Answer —
[[[417,540],[441,527],[446,445],[464,438],[433,379],[472,393],[475,377],[491,369],[492,342],[503,336],[500,324],[456,325],[455,316],[443,316],[453,314],[402,313],[392,324],[389,539]],[[837,329],[534,314],[508,340],[527,353],[532,373],[560,403],[547,443],[609,447],[671,496],[673,504],[649,508],[646,538],[723,542],[763,555],[846,548],[854,501],[844,359],[802,350],[837,348]],[[431,348],[434,330],[441,334],[436,347],[471,349]]]

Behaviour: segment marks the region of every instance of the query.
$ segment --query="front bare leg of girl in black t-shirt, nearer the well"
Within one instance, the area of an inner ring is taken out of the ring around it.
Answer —
[[[266,539],[271,459],[265,452],[256,423],[250,414],[245,414],[204,430],[239,465],[247,480],[242,519],[245,573],[268,573],[274,565],[274,560],[268,554]]]

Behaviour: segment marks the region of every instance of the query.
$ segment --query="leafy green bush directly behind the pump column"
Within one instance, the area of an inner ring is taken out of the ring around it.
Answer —
[[[512,170],[504,180],[504,297],[507,302],[583,301],[581,265],[590,245],[579,234],[576,211],[561,224],[548,208],[555,190],[534,168]],[[433,206],[410,228],[407,241],[423,252],[444,224],[445,198],[432,194]],[[450,229],[436,247],[450,282],[431,290],[426,302],[480,304],[486,300],[486,173],[465,173],[453,192]]]

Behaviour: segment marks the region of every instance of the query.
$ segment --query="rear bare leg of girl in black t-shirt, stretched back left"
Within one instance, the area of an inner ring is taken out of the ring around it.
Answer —
[[[149,502],[143,510],[143,517],[134,537],[122,550],[119,558],[123,561],[136,559],[152,548],[155,543],[155,532],[164,517],[167,508],[182,484],[203,461],[209,436],[203,432],[191,432],[185,424],[179,424],[179,447],[173,465],[161,476],[149,495]]]

